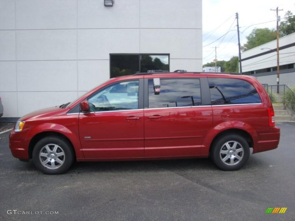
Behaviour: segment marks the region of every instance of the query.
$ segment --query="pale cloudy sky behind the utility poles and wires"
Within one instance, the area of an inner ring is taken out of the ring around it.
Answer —
[[[276,7],[283,9],[279,11],[281,21],[285,20],[282,18],[288,10],[295,14],[295,2],[291,0],[203,0],[203,64],[213,62],[215,46],[218,47],[217,60],[230,60],[239,55],[236,12],[239,13],[242,46],[253,28],[276,29],[276,11],[270,10]],[[267,23],[258,24],[263,22]],[[225,33],[224,38],[217,40]]]

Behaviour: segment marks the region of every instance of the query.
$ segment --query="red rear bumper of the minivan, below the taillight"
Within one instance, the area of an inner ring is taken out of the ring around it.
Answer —
[[[280,128],[278,127],[271,127],[268,131],[260,132],[258,135],[259,141],[253,149],[253,154],[276,149],[280,142],[280,134]]]

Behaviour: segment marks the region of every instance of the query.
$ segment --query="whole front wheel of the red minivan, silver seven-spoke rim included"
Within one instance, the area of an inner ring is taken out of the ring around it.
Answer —
[[[49,136],[37,142],[33,162],[45,174],[62,174],[73,164],[71,144],[63,138]]]

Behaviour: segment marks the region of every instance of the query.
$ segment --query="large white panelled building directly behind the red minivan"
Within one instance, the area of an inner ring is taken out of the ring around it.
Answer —
[[[110,77],[176,69],[202,71],[201,0],[0,1],[0,121]]]

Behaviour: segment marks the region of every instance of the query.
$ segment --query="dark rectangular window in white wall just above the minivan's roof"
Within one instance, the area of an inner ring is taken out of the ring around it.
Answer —
[[[169,55],[110,55],[110,77],[138,72],[168,72]]]

